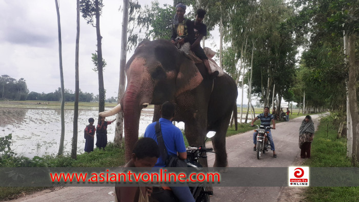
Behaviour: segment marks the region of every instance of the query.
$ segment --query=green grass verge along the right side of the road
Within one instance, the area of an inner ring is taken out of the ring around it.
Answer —
[[[306,160],[304,166],[351,167],[346,157],[347,139],[337,139],[337,129],[329,117],[321,119],[311,146],[311,159]],[[359,187],[309,187],[305,193],[305,201],[357,201],[358,198]]]

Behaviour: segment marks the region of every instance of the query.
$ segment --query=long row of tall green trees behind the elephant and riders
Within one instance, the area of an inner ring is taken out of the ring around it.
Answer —
[[[359,155],[358,64],[359,2],[354,0],[197,0],[208,30],[220,30],[220,65],[238,87],[262,106],[296,102],[303,111],[330,109],[344,114],[353,142],[348,156]],[[177,1],[173,1],[175,6]],[[174,7],[153,1],[130,3],[129,48],[143,39],[169,38]],[[139,29],[138,31],[138,27]],[[203,44],[204,46],[204,44]],[[302,58],[296,55],[303,49]],[[298,63],[299,62],[299,63]],[[243,92],[242,92],[243,97]],[[275,104],[276,103],[276,104]],[[243,100],[242,100],[243,106]],[[241,117],[243,109],[241,108]],[[351,139],[351,136],[348,136]],[[353,147],[353,148],[351,148]]]

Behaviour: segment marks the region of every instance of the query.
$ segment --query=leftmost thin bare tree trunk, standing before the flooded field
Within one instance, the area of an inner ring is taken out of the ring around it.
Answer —
[[[64,152],[64,139],[65,139],[65,86],[64,86],[64,72],[63,72],[63,55],[62,55],[62,42],[61,42],[61,23],[60,23],[60,11],[58,9],[57,0],[56,4],[56,13],[57,13],[57,29],[58,29],[58,60],[60,64],[60,79],[61,79],[61,137],[60,144],[58,147],[58,154],[63,155]]]

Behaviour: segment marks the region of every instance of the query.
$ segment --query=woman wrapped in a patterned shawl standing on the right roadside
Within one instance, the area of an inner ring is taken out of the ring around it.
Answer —
[[[307,115],[299,128],[299,148],[301,158],[310,158],[310,147],[314,137],[314,123],[312,117]]]

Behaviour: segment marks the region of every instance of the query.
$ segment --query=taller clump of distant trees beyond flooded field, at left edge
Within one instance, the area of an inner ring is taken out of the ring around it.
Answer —
[[[0,99],[25,100],[28,93],[29,90],[24,78],[16,80],[9,75],[0,77]]]

